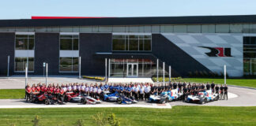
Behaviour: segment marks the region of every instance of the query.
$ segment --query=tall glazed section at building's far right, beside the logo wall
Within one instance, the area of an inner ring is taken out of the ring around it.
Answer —
[[[256,37],[243,37],[243,72],[256,74]]]

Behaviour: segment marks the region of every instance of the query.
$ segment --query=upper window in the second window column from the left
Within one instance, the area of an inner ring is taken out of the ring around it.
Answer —
[[[78,50],[78,35],[61,35],[60,50]]]

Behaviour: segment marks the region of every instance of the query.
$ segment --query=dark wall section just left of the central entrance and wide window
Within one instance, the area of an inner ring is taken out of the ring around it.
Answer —
[[[90,76],[105,75],[104,57],[96,57],[96,52],[111,52],[111,33],[80,34],[81,74]]]

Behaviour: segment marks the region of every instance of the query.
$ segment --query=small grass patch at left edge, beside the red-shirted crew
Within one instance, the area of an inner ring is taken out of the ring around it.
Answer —
[[[24,98],[24,89],[0,89],[0,99]]]

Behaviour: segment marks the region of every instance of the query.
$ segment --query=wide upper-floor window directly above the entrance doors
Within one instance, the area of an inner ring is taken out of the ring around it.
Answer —
[[[113,35],[112,38],[112,50],[151,50],[151,35]]]

